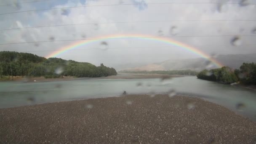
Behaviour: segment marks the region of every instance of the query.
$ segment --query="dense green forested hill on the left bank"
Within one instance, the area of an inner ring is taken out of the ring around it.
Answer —
[[[117,75],[114,68],[101,64],[96,67],[87,62],[77,62],[59,58],[40,57],[31,53],[10,51],[0,52],[0,78],[2,80],[13,76],[56,78],[74,77],[106,77]]]

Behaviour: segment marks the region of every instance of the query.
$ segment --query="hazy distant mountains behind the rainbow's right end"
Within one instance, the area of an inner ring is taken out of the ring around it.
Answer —
[[[238,69],[244,62],[256,62],[256,53],[253,54],[234,54],[234,55],[219,55],[215,58],[221,64]],[[202,69],[215,68],[214,65],[203,58],[197,59],[181,59],[167,60],[154,64],[148,64],[141,67],[125,68],[128,71],[152,71],[152,70],[185,70],[191,69],[200,71]]]

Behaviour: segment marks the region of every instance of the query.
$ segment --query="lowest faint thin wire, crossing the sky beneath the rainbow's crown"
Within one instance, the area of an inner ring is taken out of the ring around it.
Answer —
[[[242,46],[255,46],[256,44],[251,44],[251,45],[240,45],[240,47]],[[190,45],[193,47],[227,47],[230,45]],[[147,46],[147,47],[124,47],[124,48],[108,48],[108,50],[112,50],[112,49],[140,49],[140,48],[176,48],[179,46]],[[82,48],[82,49],[70,49],[67,51],[81,51],[81,50],[102,50],[101,48]],[[55,49],[55,50],[40,50],[40,51],[20,51],[20,53],[28,53],[28,52],[47,52],[47,51],[63,51],[60,49]],[[0,53],[13,53],[12,51],[10,52],[0,52]]]

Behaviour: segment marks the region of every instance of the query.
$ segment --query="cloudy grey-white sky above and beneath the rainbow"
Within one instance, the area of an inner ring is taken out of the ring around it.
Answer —
[[[0,51],[48,56],[75,40],[131,34],[168,37],[208,54],[256,53],[255,13],[256,0],[1,0]],[[118,69],[200,56],[157,41],[120,38],[56,57]]]

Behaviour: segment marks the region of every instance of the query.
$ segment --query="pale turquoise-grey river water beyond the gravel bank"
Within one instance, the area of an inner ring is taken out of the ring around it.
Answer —
[[[139,85],[139,86],[138,86]],[[256,91],[199,80],[196,77],[160,79],[81,79],[52,82],[0,82],[0,108],[128,94],[176,93],[221,104],[256,121]],[[237,104],[244,107],[237,109]]]

